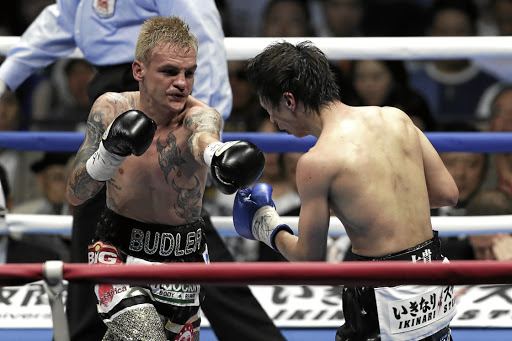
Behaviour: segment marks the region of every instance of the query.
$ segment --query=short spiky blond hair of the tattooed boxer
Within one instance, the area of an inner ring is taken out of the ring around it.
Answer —
[[[147,64],[153,49],[160,44],[174,45],[187,52],[190,49],[197,52],[199,47],[199,42],[190,32],[188,24],[177,16],[152,17],[144,21],[137,38],[135,59]]]

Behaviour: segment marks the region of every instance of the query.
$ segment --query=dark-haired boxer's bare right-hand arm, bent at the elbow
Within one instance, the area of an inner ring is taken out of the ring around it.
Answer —
[[[455,206],[459,200],[459,190],[453,177],[425,134],[416,130],[421,142],[430,208]]]

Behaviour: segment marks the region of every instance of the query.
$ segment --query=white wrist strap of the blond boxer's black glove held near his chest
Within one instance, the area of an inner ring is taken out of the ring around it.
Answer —
[[[124,159],[126,156],[119,156],[106,150],[102,141],[98,150],[87,160],[85,168],[94,180],[107,181],[112,178]]]

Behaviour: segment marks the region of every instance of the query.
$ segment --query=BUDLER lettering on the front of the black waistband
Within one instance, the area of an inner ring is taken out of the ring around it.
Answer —
[[[196,252],[200,246],[201,229],[185,234],[180,232],[144,232],[133,228],[128,248],[135,252],[144,251],[147,255],[154,255],[156,253],[162,257],[170,255],[182,257]]]

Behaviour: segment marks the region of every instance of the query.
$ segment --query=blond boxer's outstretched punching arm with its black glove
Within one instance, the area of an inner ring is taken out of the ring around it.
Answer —
[[[252,185],[263,172],[265,157],[247,141],[220,141],[223,121],[212,108],[190,113],[185,125],[192,130],[188,145],[194,158],[210,168],[215,186],[224,194]]]

